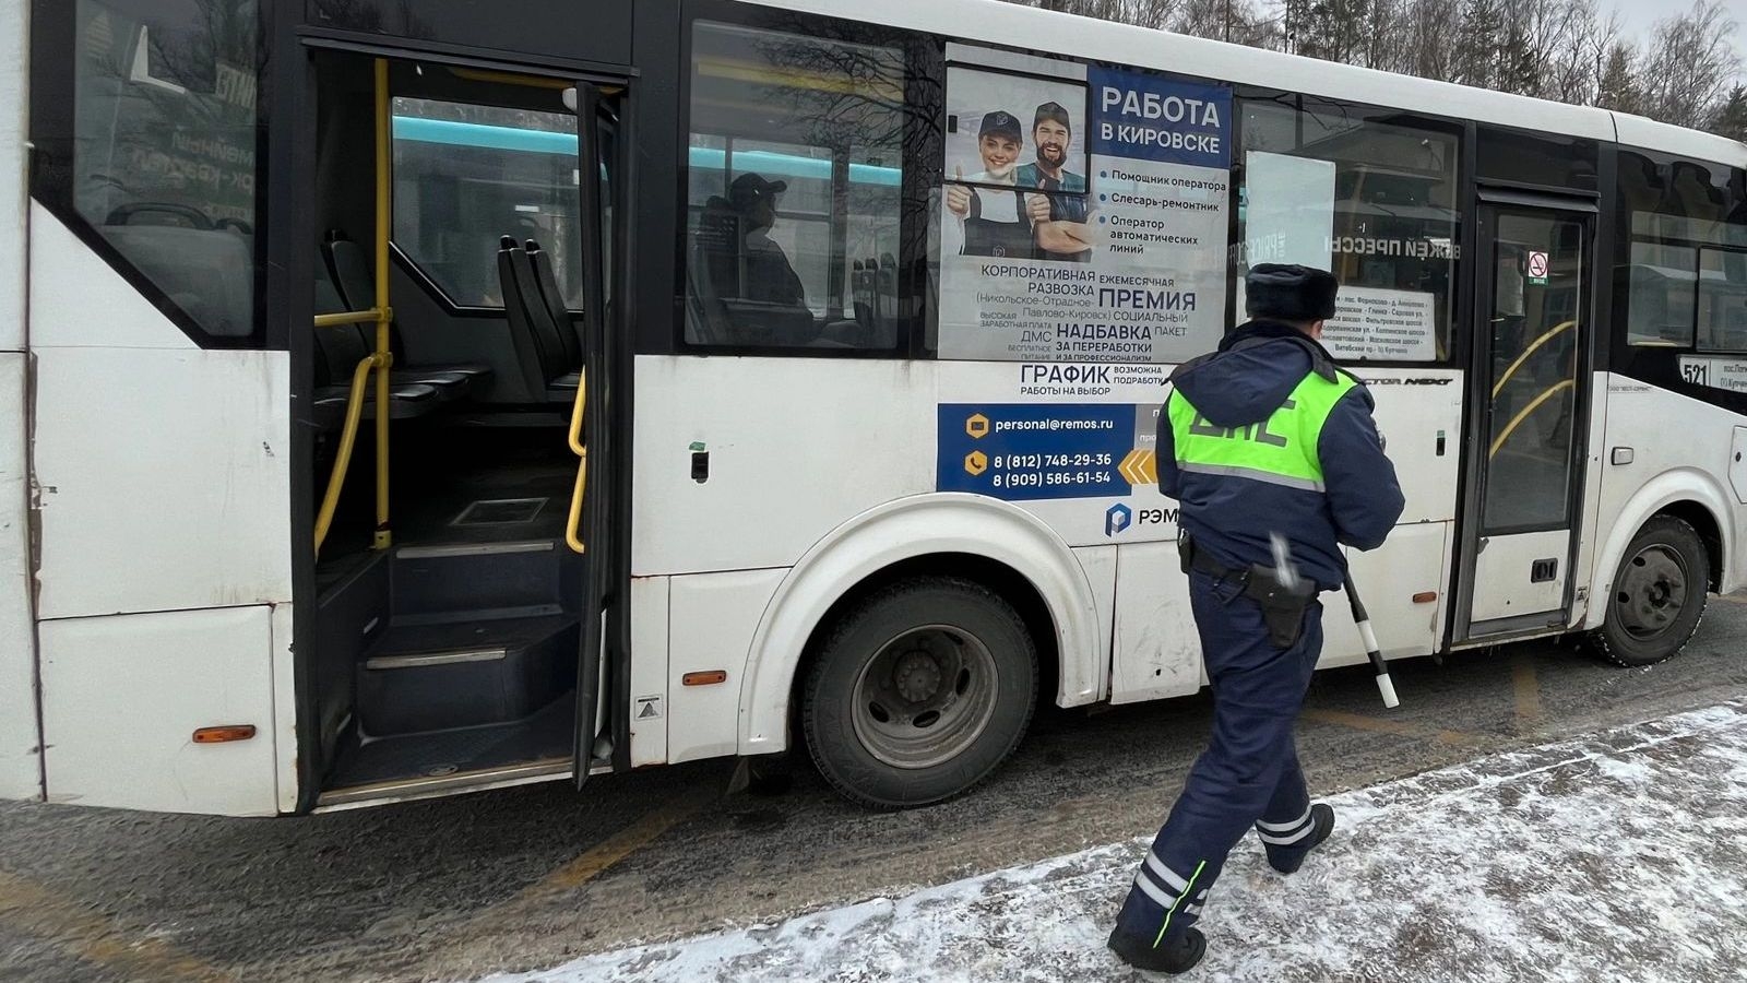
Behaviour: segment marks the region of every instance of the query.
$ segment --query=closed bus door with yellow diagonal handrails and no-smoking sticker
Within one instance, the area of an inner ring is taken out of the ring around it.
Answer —
[[[1593,227],[1593,206],[1481,206],[1462,638],[1565,624],[1571,610]]]

